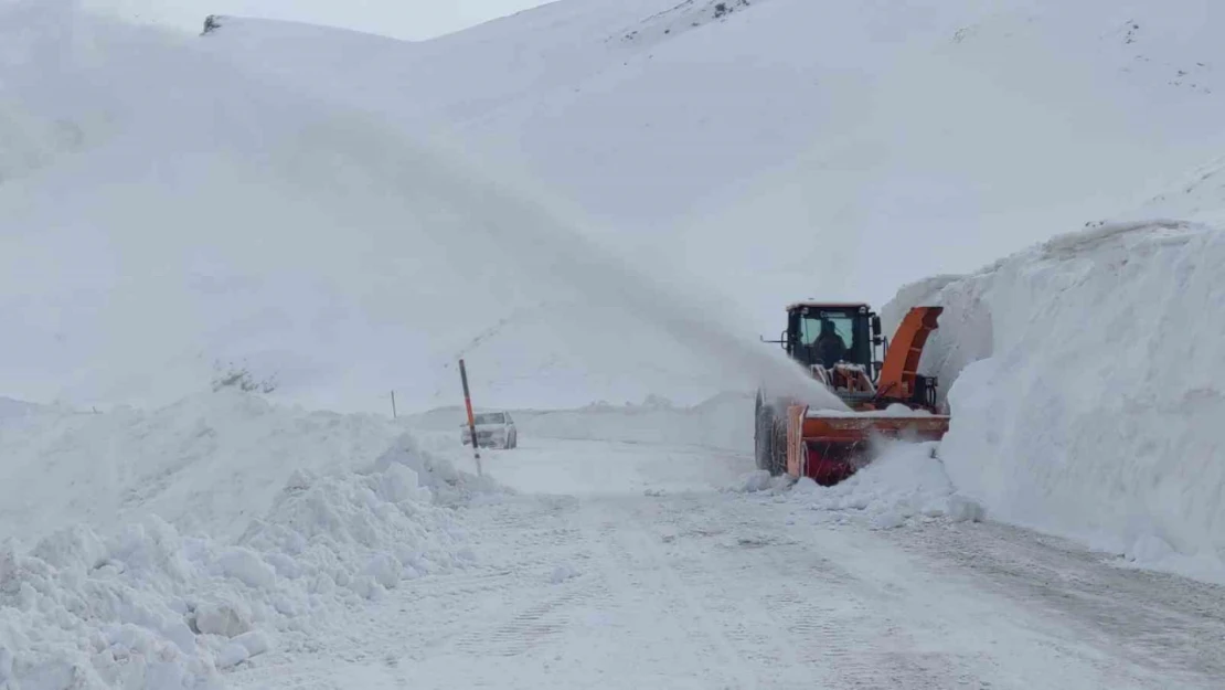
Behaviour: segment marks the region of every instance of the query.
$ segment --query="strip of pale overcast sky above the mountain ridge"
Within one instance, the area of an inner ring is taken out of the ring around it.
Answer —
[[[208,15],[239,15],[338,26],[420,40],[548,0],[83,0],[147,23],[200,32]]]

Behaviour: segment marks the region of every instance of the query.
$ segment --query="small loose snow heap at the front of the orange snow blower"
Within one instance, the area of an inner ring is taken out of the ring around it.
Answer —
[[[981,506],[958,495],[935,456],[937,444],[889,442],[867,467],[834,487],[801,479],[793,493],[816,510],[865,516],[878,528],[914,517],[980,521]]]

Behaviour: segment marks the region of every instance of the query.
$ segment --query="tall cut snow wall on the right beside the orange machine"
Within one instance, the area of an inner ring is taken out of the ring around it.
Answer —
[[[922,369],[941,457],[993,518],[1225,576],[1225,230],[1153,222],[1055,238],[903,288],[944,306]]]

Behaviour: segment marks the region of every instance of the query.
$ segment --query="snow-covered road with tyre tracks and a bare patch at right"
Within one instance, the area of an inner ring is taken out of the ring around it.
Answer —
[[[478,566],[405,582],[320,648],[252,659],[229,680],[1171,689],[1225,678],[1220,587],[991,523],[877,531],[795,495],[720,493],[750,461],[699,449],[526,441],[486,455],[522,494],[459,511]]]

